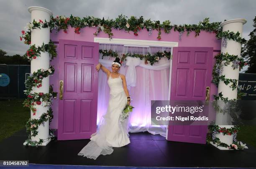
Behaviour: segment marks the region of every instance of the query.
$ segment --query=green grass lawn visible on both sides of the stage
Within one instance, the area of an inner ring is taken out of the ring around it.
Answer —
[[[25,127],[30,109],[23,107],[23,100],[0,100],[0,141]],[[256,126],[241,126],[237,139],[256,147]]]

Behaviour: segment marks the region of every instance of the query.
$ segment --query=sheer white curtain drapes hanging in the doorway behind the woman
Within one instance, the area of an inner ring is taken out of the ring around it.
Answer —
[[[139,53],[146,55],[171,48],[166,47],[131,47],[123,45],[100,44],[102,50],[113,50],[121,53]],[[99,62],[111,71],[114,57],[105,56]],[[124,66],[126,65],[126,66]],[[129,65],[129,66],[128,66]],[[151,126],[151,100],[168,100],[170,60],[162,57],[159,63],[153,66],[150,62],[146,65],[144,60],[127,58],[127,62],[120,68],[119,73],[125,75],[129,84],[129,94],[133,99],[131,105],[135,107],[128,119],[129,132],[148,131],[151,134],[166,135],[166,126]],[[97,125],[100,126],[101,117],[105,114],[109,101],[109,87],[106,74],[100,70],[98,85]]]

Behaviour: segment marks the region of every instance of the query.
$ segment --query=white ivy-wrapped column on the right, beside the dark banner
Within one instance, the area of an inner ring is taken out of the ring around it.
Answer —
[[[245,24],[247,21],[245,19],[233,19],[233,20],[227,20],[225,22],[222,22],[220,24],[221,27],[223,27],[223,31],[229,30],[229,32],[239,32],[240,37],[242,37],[242,32],[243,32],[243,24]],[[227,46],[223,47],[221,45],[221,52],[226,53],[228,52],[229,55],[238,55],[238,57],[241,57],[241,43],[236,42],[234,40],[228,40],[227,39]],[[225,75],[225,78],[228,79],[236,79],[238,80],[239,77],[239,68],[236,70],[233,70],[232,63],[230,65],[224,66],[223,72],[221,75]],[[221,76],[220,75],[220,76]],[[236,99],[237,98],[237,89],[232,90],[230,87],[231,83],[228,85],[225,85],[223,81],[219,82],[218,85],[218,93],[222,92],[223,97],[228,97],[228,100],[231,99]],[[220,107],[222,107],[223,104],[220,104]],[[222,118],[220,118],[221,114],[217,115],[218,118],[216,119],[216,123],[221,123],[220,121],[223,119],[228,119],[230,117],[227,117],[224,115]],[[220,119],[220,120],[218,120]],[[219,122],[218,122],[219,121]],[[224,120],[225,121],[225,120]],[[219,127],[234,127],[233,125],[219,125]],[[224,142],[228,145],[233,143],[233,135],[228,136],[225,135],[223,136],[222,133],[216,134],[216,137],[220,139],[220,142]]]

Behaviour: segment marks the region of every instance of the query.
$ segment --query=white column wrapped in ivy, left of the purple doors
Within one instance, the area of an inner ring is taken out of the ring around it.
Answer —
[[[31,13],[31,23],[33,20],[38,22],[39,20],[42,20],[43,22],[46,20],[47,22],[50,21],[50,16],[53,15],[53,13],[44,8],[44,7],[37,7],[37,6],[31,6],[28,7],[28,11]],[[33,29],[31,32],[31,45],[36,45],[36,47],[41,46],[44,42],[44,44],[48,44],[50,41],[50,28],[42,28],[39,29]],[[36,72],[38,69],[49,69],[49,53],[48,52],[41,52],[41,56],[37,57],[36,59],[31,60],[31,73]],[[33,87],[31,93],[34,92],[44,92],[49,93],[49,76],[44,78],[42,81],[42,87],[37,88]],[[41,105],[36,105],[36,115],[33,115],[33,112],[31,111],[31,119],[39,119],[41,114],[47,112],[49,110],[48,107],[44,107],[46,105],[45,102],[42,102]],[[32,135],[32,133],[31,133]],[[45,122],[44,126],[40,125],[38,127],[38,134],[36,137],[31,137],[32,141],[39,141],[39,139],[48,139],[49,138],[49,120]],[[41,145],[46,145],[50,142],[44,142]],[[24,143],[26,144],[26,143]]]

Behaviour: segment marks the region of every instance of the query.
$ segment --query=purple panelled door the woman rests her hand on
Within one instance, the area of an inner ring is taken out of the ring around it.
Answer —
[[[58,140],[89,139],[97,127],[99,43],[59,40],[58,57],[63,80]]]

